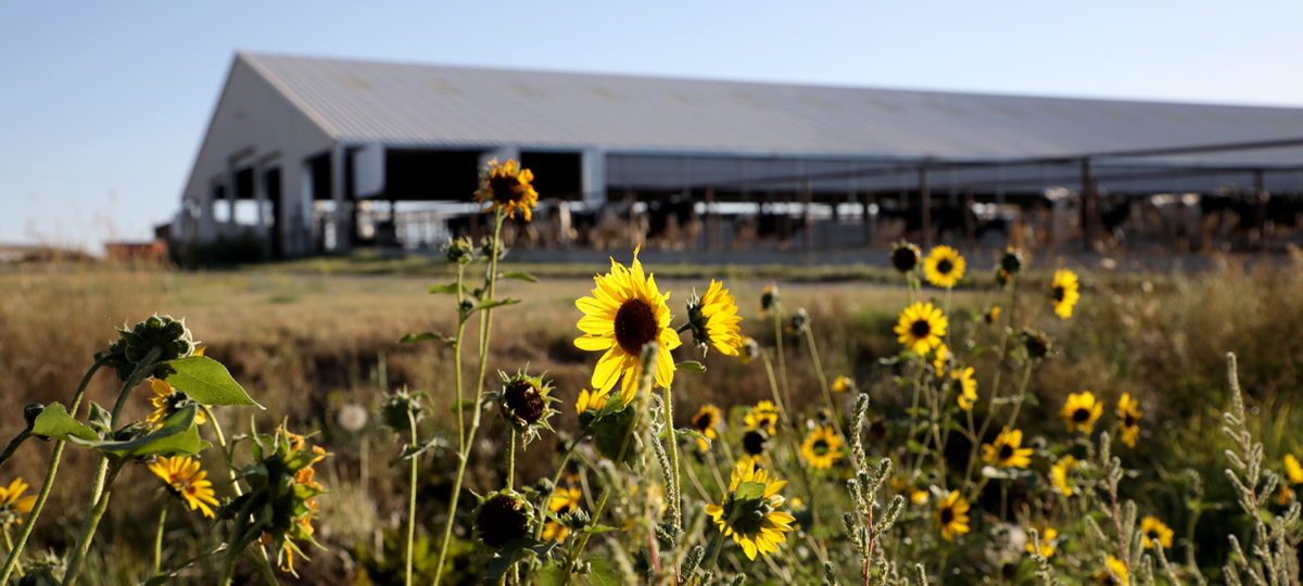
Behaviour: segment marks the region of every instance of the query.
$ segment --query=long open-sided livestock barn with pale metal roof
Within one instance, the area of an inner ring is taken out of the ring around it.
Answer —
[[[1269,245],[1303,109],[237,53],[171,228],[274,257],[437,246],[533,169],[534,246]],[[659,240],[658,240],[659,238]]]

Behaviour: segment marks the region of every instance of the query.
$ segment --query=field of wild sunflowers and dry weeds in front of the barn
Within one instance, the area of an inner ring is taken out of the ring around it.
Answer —
[[[493,236],[366,319],[370,400],[314,388],[349,384],[302,348],[365,344],[294,333],[321,310],[250,310],[257,352],[156,314],[0,345],[0,585],[1299,583],[1298,264],[1092,280],[902,241],[869,298],[658,283],[640,250],[547,288],[500,240],[532,181],[490,163]],[[30,310],[0,324],[55,323]]]

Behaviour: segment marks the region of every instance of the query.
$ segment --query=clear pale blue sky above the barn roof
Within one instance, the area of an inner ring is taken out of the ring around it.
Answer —
[[[0,244],[150,237],[236,49],[1303,107],[1299,22],[1283,0],[3,3]]]

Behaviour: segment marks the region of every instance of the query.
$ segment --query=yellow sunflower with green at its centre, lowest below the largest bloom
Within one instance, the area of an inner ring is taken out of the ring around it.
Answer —
[[[783,505],[778,491],[784,486],[787,481],[770,479],[767,470],[757,470],[754,461],[743,458],[734,467],[723,505],[708,504],[706,514],[724,537],[732,537],[734,543],[741,546],[747,559],[754,560],[757,552],[777,552],[778,544],[787,542],[784,533],[791,531],[796,521],[778,510]]]

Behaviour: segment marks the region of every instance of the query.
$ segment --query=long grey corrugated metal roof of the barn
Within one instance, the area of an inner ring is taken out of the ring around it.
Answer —
[[[345,142],[1014,159],[1303,137],[1303,109],[238,53]],[[1299,164],[1303,150],[1183,155]]]

